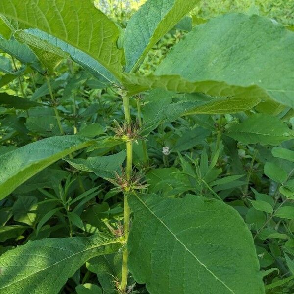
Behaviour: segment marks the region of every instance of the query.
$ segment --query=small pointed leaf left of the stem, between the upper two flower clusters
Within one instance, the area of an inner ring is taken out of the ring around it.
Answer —
[[[125,160],[126,153],[121,151],[114,155],[88,157],[87,159],[67,159],[66,161],[77,170],[94,172],[102,178],[113,178],[115,171],[119,171],[120,165]]]

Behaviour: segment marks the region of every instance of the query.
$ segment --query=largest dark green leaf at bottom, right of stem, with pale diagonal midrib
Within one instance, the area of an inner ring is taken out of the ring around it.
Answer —
[[[129,269],[150,294],[265,293],[252,236],[233,208],[192,195],[129,202]]]

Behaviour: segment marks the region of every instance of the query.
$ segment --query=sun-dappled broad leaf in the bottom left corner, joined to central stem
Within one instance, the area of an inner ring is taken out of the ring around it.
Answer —
[[[121,246],[120,239],[101,233],[29,241],[0,257],[0,294],[58,293],[87,260]]]

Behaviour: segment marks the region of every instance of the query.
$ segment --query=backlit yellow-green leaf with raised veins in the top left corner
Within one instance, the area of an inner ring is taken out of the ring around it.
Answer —
[[[56,37],[63,47],[68,44],[70,51],[85,53],[120,80],[122,51],[116,45],[119,29],[92,1],[8,0],[0,3],[0,13],[44,31],[48,39]]]

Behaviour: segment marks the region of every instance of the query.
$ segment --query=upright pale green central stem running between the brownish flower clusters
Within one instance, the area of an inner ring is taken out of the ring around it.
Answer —
[[[126,123],[131,123],[131,113],[129,97],[123,96],[123,108]],[[133,164],[133,142],[126,142],[126,177],[129,180],[132,174],[132,164]],[[120,284],[120,291],[125,294],[127,287],[127,276],[128,276],[128,249],[127,240],[130,230],[130,207],[128,205],[127,194],[124,194],[124,207],[123,207],[123,223],[124,223],[124,238],[125,238],[125,248],[123,250],[123,268],[122,268],[122,281]]]

